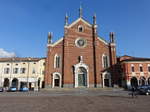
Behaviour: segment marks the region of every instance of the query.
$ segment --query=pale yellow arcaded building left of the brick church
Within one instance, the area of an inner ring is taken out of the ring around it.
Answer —
[[[0,58],[0,87],[44,87],[45,58]]]

